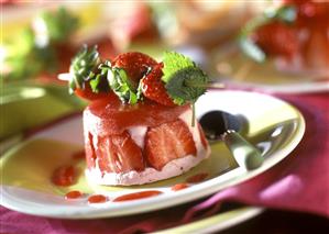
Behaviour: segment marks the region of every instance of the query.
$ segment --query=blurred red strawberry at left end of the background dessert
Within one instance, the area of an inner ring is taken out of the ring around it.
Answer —
[[[296,32],[279,22],[259,27],[253,40],[267,55],[292,57],[298,49]]]

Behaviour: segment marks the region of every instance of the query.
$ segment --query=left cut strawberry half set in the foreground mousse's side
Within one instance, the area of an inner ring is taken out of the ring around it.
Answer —
[[[122,134],[99,137],[96,155],[102,171],[127,172],[144,169],[142,149],[125,131]]]

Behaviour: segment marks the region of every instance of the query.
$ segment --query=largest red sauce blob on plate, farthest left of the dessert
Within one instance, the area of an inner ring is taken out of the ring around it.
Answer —
[[[72,186],[75,183],[76,169],[73,166],[62,166],[54,170],[52,182],[56,186]]]

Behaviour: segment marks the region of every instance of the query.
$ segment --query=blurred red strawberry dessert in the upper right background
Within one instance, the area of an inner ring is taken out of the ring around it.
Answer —
[[[328,14],[326,1],[279,1],[245,25],[242,48],[257,62],[274,58],[285,73],[328,76]]]

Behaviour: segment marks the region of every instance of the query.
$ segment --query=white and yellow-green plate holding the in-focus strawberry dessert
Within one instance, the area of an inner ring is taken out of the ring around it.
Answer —
[[[237,167],[228,149],[219,143],[212,146],[209,159],[173,179],[139,187],[100,187],[88,185],[81,172],[76,185],[56,187],[50,179],[52,171],[63,164],[73,163],[69,155],[83,147],[81,116],[76,116],[39,132],[1,157],[1,204],[23,213],[62,219],[120,216],[168,208],[210,196],[260,175],[285,158],[297,146],[305,131],[304,119],[294,107],[265,94],[209,91],[199,99],[197,114],[200,116],[210,110],[224,110],[243,116],[248,122],[245,135],[263,148],[265,160],[260,168],[246,171]],[[76,164],[83,170],[84,161]],[[184,182],[187,177],[205,171],[209,172],[207,180],[180,191],[171,190],[172,186]],[[64,194],[74,189],[86,196],[65,200]],[[135,201],[111,201],[123,193],[150,189],[164,193]],[[110,200],[90,205],[87,202],[90,193],[103,193]]]

